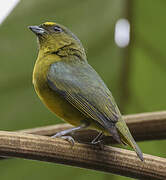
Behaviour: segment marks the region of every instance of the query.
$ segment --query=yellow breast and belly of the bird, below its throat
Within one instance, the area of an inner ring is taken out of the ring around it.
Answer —
[[[47,57],[50,58],[50,57]],[[33,84],[41,101],[50,111],[68,123],[78,126],[85,119],[75,107],[68,103],[60,94],[49,88],[47,84],[47,72],[53,63],[50,59],[38,59],[33,71]]]

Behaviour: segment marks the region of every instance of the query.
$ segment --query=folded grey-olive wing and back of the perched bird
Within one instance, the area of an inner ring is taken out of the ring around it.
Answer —
[[[102,79],[86,62],[56,62],[50,66],[48,85],[87,117],[111,128],[120,112]]]

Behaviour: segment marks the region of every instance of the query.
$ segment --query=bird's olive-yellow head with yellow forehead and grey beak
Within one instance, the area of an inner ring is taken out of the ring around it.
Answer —
[[[44,54],[56,54],[61,57],[76,55],[86,59],[80,40],[66,27],[45,22],[39,26],[29,26],[39,40],[39,50]]]

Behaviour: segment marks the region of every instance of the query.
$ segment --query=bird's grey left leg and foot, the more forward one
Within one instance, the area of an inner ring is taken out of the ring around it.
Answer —
[[[66,129],[66,130],[63,130],[63,131],[60,131],[58,133],[56,133],[54,136],[51,136],[52,138],[57,138],[57,137],[61,137],[67,141],[69,141],[72,145],[74,145],[75,141],[73,139],[73,137],[71,136],[65,136],[66,134],[69,134],[69,133],[73,133],[73,132],[76,132],[76,131],[79,131],[81,129],[84,129],[86,127],[88,127],[89,124],[87,123],[84,123],[84,124],[81,124],[80,126],[77,126],[77,127],[73,127],[71,129]]]

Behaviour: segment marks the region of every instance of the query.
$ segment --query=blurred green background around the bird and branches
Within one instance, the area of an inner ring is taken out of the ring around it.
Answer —
[[[123,114],[166,107],[165,0],[21,0],[0,26],[0,129],[62,123],[40,102],[32,86],[36,37],[27,29],[56,21],[82,41],[89,63],[111,89]],[[115,23],[128,18],[131,44],[114,42]],[[166,157],[166,141],[139,143],[144,153]],[[1,180],[123,180],[92,170],[22,159],[0,161]]]

